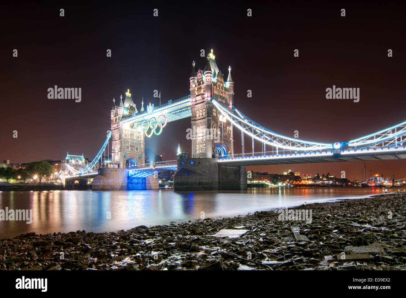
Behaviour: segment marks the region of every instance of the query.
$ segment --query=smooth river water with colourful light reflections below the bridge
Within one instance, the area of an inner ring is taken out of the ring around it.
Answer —
[[[396,189],[397,190],[397,189]],[[392,190],[394,191],[394,190]],[[402,190],[401,190],[402,191]],[[0,221],[0,238],[28,232],[111,232],[205,217],[293,207],[304,202],[364,198],[385,189],[343,187],[248,189],[248,191],[0,191],[0,209],[32,209],[32,223]],[[108,219],[111,212],[111,219]]]

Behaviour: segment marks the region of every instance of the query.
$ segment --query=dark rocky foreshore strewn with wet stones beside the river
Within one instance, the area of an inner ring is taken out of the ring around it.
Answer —
[[[311,223],[271,210],[109,233],[28,233],[0,240],[0,269],[405,270],[405,203],[405,193],[393,193],[289,208],[311,210]],[[212,236],[221,229],[248,232]]]

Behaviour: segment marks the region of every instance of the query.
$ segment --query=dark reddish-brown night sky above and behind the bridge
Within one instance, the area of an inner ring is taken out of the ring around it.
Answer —
[[[218,67],[232,67],[234,105],[268,129],[309,141],[349,141],[406,120],[404,7],[393,3],[269,2],[245,5],[2,5],[0,161],[24,163],[82,154],[93,159],[110,129],[112,99],[127,89],[159,104],[188,94],[192,61],[203,69],[213,49]],[[65,16],[60,17],[60,9]],[[153,9],[158,17],[153,17]],[[252,9],[252,17],[247,16]],[[346,9],[346,17],[341,17]],[[13,57],[13,49],[18,57]],[[112,57],[106,57],[111,49]],[[299,57],[294,57],[294,49]],[[393,57],[388,57],[388,49]],[[48,99],[48,88],[82,88],[82,101]],[[326,99],[326,88],[360,88],[360,101]],[[252,90],[252,98],[247,98]],[[191,152],[186,118],[146,140],[163,159],[178,143]],[[13,138],[13,131],[18,137]],[[234,152],[241,152],[234,131]],[[246,152],[252,151],[246,142]],[[255,151],[261,151],[259,144]],[[403,178],[406,161],[367,162],[367,175]],[[363,162],[247,167],[281,173],[327,173],[361,179]]]

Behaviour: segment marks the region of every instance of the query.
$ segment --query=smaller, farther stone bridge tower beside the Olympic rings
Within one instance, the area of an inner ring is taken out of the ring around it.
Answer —
[[[113,99],[114,101],[114,99]],[[140,111],[144,110],[144,103]],[[114,101],[111,110],[111,157],[112,163],[120,168],[142,165],[145,162],[144,133],[137,124],[121,124],[121,120],[138,113],[132,101],[130,90],[125,93],[125,100],[120,96],[120,104]]]

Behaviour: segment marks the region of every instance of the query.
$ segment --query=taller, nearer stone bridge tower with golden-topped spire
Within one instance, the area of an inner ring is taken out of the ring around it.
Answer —
[[[195,71],[194,61],[190,76],[190,103],[192,111],[192,157],[215,157],[233,154],[233,126],[212,104],[215,99],[232,111],[234,82],[231,67],[227,81],[218,69],[213,50],[207,55],[203,71]]]

